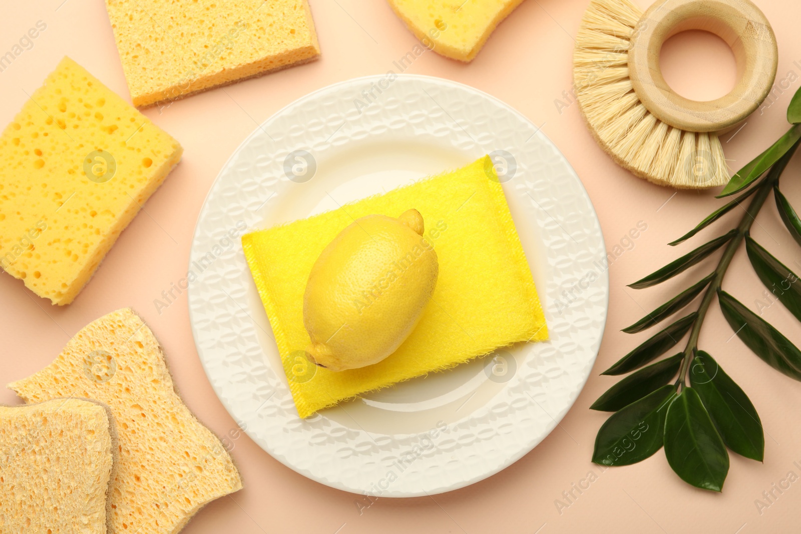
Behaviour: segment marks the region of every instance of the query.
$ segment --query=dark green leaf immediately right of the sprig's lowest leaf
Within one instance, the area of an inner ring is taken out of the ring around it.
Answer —
[[[704,351],[698,351],[690,367],[690,382],[723,443],[739,455],[762,461],[765,435],[756,408],[745,391]]]

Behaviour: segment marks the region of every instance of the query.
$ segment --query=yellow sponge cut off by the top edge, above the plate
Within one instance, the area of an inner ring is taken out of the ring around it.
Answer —
[[[425,46],[469,62],[495,27],[523,0],[388,0]]]

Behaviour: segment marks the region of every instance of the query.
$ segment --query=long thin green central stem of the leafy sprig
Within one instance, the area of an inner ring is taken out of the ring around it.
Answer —
[[[787,151],[787,154],[775,163],[762,182],[755,186],[759,188],[759,191],[757,191],[754,198],[751,199],[751,203],[748,205],[743,219],[740,219],[740,223],[737,225],[737,233],[731,238],[731,241],[729,241],[724,249],[723,256],[721,256],[718,262],[718,267],[714,269],[714,277],[709,286],[706,287],[706,292],[704,292],[701,304],[698,306],[698,317],[695,318],[692,330],[690,330],[690,339],[687,340],[687,345],[684,349],[682,367],[679,367],[678,370],[678,379],[676,380],[677,386],[681,385],[682,388],[685,387],[687,369],[690,367],[690,360],[698,349],[698,336],[701,335],[701,326],[703,320],[706,318],[706,311],[709,311],[710,304],[718,294],[718,290],[723,286],[723,277],[726,276],[726,271],[729,265],[731,265],[731,259],[735,257],[735,252],[737,252],[740,243],[743,243],[743,239],[745,239],[748,231],[751,230],[751,225],[754,224],[756,216],[759,215],[759,210],[762,209],[767,195],[770,195],[773,184],[779,180],[784,168],[787,167],[787,163],[789,163],[797,148],[798,145],[795,145],[790,151]]]

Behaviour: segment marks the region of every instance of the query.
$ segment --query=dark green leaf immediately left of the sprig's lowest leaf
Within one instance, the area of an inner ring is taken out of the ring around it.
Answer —
[[[662,386],[610,416],[595,437],[593,462],[636,464],[662,448],[667,405],[675,395],[675,386]]]

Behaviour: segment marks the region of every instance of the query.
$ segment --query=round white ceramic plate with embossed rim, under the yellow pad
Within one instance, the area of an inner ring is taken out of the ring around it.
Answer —
[[[301,420],[239,235],[389,191],[488,153],[550,340],[522,344]],[[372,76],[300,98],[220,171],[192,241],[189,311],[200,359],[231,416],[312,480],[373,496],[473,484],[529,452],[581,391],[606,322],[601,228],[582,183],[527,118],[440,78]]]

